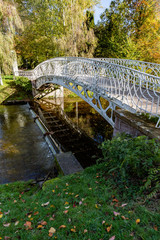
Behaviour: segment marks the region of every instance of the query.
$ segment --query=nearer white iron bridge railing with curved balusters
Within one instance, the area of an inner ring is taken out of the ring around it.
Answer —
[[[35,88],[53,78],[85,85],[132,112],[160,116],[160,77],[97,59],[55,58],[30,71]]]

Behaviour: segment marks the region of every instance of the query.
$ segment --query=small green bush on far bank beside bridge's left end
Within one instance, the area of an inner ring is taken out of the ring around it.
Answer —
[[[27,77],[15,77],[15,84],[28,93],[32,91],[31,81]]]

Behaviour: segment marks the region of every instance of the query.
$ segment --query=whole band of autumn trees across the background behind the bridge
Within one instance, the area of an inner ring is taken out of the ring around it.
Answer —
[[[115,57],[160,63],[159,0],[114,0],[95,26],[100,0],[0,0],[0,70],[53,57]],[[22,31],[23,29],[23,31]]]

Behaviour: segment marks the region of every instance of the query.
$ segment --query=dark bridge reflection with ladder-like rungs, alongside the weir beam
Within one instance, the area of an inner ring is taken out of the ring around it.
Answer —
[[[36,105],[35,111],[63,152],[72,152],[83,168],[96,163],[101,156],[97,144],[75,126],[60,107],[51,110]]]

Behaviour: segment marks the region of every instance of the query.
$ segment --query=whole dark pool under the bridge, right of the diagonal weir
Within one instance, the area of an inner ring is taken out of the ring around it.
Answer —
[[[82,167],[101,157],[98,143],[111,138],[112,127],[80,99],[38,101],[37,114],[63,152],[71,151]],[[64,108],[64,109],[63,109]]]

